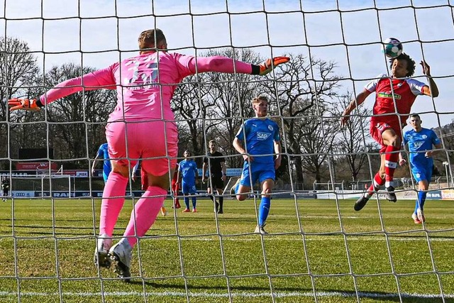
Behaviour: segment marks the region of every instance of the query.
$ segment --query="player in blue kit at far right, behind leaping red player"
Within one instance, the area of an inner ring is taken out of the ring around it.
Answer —
[[[424,202],[426,202],[428,184],[432,177],[432,155],[436,152],[432,149],[433,146],[437,149],[441,148],[441,142],[436,133],[431,129],[421,127],[421,122],[418,114],[412,114],[410,125],[413,129],[404,134],[404,144],[408,143],[409,145],[411,174],[418,182],[418,197],[416,198],[414,213],[411,214],[415,224],[426,221],[423,211]],[[401,162],[403,161],[401,160]]]

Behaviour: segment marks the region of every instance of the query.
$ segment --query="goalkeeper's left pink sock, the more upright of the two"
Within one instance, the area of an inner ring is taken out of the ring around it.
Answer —
[[[108,236],[112,236],[112,233],[114,233],[118,215],[125,202],[124,196],[127,184],[127,177],[123,177],[116,172],[110,173],[102,194],[101,215],[99,216],[100,235],[106,233]]]

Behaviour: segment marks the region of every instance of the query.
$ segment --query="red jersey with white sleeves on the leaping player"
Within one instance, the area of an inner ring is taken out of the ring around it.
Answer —
[[[395,128],[403,128],[406,125],[406,119],[409,117],[411,106],[414,104],[416,97],[423,94],[422,90],[425,86],[427,85],[416,79],[392,79],[384,74],[380,75],[378,79],[369,82],[365,89],[376,93],[373,116],[370,119],[370,123],[384,122]],[[394,100],[396,101],[395,105]],[[382,114],[395,113],[399,115],[382,116]]]

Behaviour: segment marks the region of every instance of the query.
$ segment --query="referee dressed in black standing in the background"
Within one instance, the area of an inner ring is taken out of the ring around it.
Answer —
[[[207,157],[204,158],[204,166],[202,167],[202,177],[201,181],[205,182],[206,180],[206,170],[209,170],[209,180],[211,182],[208,183],[208,187],[206,188],[206,192],[210,195],[211,201],[215,202],[215,211],[218,214],[223,214],[223,202],[224,197],[219,197],[219,202],[216,201],[214,198],[214,194],[211,194],[216,190],[216,192],[221,195],[224,188],[224,182],[226,181],[226,160],[223,157],[222,153],[217,151],[218,143],[216,141],[211,140],[208,143],[208,147],[210,149],[209,153],[207,153]]]

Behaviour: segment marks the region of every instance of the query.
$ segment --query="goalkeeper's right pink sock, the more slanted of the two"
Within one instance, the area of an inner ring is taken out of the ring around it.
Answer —
[[[133,211],[131,211],[131,219],[129,220],[128,227],[126,227],[123,235],[125,237],[129,236],[128,242],[131,244],[131,247],[134,247],[135,243],[137,243],[137,237],[145,236],[148,229],[155,223],[157,214],[162,204],[164,204],[166,196],[167,190],[161,187],[149,186],[135,204]]]

